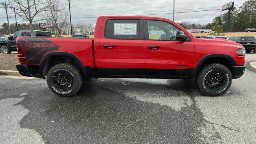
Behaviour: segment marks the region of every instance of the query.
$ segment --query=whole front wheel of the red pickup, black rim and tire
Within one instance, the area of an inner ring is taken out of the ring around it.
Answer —
[[[206,96],[220,96],[230,88],[232,74],[226,66],[211,63],[200,70],[196,83],[200,91]]]

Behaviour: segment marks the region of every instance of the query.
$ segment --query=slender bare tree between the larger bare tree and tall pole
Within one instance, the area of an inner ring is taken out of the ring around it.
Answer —
[[[59,0],[48,1],[48,5],[45,12],[46,22],[52,24],[52,27],[58,32],[58,36],[61,36],[68,20],[68,9],[66,9],[68,5],[62,5]]]

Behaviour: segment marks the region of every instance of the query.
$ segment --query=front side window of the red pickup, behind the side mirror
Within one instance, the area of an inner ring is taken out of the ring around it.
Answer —
[[[168,22],[147,20],[148,36],[150,40],[176,40],[178,28]]]

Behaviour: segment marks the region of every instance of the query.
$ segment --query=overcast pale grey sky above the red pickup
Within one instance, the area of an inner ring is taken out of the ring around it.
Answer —
[[[0,2],[4,1],[0,0]],[[68,3],[67,0],[60,1],[62,4]],[[235,6],[240,7],[245,1],[247,0],[235,0]],[[175,22],[188,21],[200,24],[212,22],[214,17],[224,13],[216,9],[221,9],[227,2],[230,0],[175,0]],[[145,15],[173,19],[173,0],[70,0],[70,6],[74,24],[91,22],[95,25],[100,15]],[[200,10],[212,11],[191,12]],[[0,12],[2,24],[7,20],[4,8],[0,11],[2,11]],[[14,23],[14,15],[9,14],[9,16],[10,23]],[[18,18],[18,21],[20,20]]]

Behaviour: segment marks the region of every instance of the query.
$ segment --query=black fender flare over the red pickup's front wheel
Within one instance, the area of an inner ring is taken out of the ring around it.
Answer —
[[[226,58],[226,59],[230,60],[230,62],[233,66],[237,65],[236,60],[228,54],[208,54],[208,55],[204,56],[203,58],[201,58],[201,60],[196,64],[196,67],[194,68],[192,75],[191,75],[192,79],[196,77],[196,74],[197,74],[198,70],[200,69],[200,67],[202,66],[203,62],[205,62],[209,58]]]

